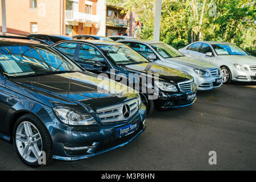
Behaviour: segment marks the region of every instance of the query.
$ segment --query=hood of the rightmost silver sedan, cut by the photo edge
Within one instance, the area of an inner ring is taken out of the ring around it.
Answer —
[[[221,60],[229,61],[230,63],[237,63],[242,65],[256,65],[256,57],[242,56],[242,55],[221,55],[218,56]]]

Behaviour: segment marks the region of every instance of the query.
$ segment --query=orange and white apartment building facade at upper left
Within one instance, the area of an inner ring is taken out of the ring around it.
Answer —
[[[6,1],[7,32],[14,34],[105,36],[105,23],[105,0]],[[2,19],[0,24],[2,25]]]

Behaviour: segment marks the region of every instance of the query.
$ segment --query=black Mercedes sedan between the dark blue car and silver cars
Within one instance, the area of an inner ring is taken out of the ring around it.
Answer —
[[[105,74],[115,81],[126,78],[126,84],[141,93],[147,114],[151,113],[154,106],[159,109],[177,109],[196,101],[197,86],[192,76],[151,63],[125,44],[101,40],[68,40],[53,46],[90,72]],[[144,88],[146,92],[143,92]],[[155,93],[157,97],[152,96],[156,96]]]

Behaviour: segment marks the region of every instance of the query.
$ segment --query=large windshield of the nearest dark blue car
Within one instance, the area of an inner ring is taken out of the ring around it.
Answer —
[[[10,77],[81,71],[75,63],[47,46],[1,46],[0,69]]]

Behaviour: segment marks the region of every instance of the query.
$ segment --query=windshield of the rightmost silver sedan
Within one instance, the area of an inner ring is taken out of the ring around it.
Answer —
[[[213,44],[212,47],[217,55],[248,55],[235,44]]]

